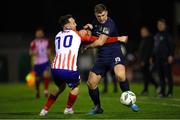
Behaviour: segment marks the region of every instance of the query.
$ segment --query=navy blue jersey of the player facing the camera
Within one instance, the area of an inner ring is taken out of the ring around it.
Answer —
[[[94,36],[99,36],[100,34],[105,34],[109,37],[119,36],[117,27],[114,21],[108,17],[107,21],[103,24],[99,23],[96,19],[92,22]],[[120,42],[115,42],[111,44],[105,44],[101,47],[98,47],[97,60],[107,60],[112,58],[120,49]]]

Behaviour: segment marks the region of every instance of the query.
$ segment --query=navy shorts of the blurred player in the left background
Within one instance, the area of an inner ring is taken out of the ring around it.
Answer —
[[[44,71],[48,71],[48,70],[50,70],[49,61],[43,64],[34,65],[34,71],[36,72],[37,76],[43,76]]]

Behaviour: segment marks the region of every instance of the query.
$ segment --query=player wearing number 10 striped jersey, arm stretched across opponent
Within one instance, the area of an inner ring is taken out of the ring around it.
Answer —
[[[55,102],[60,93],[62,93],[68,85],[70,87],[69,97],[64,114],[73,114],[73,104],[76,101],[79,85],[80,72],[77,69],[78,51],[81,41],[91,42],[96,37],[83,36],[86,30],[76,31],[76,22],[72,15],[64,15],[60,17],[60,24],[63,31],[60,31],[55,37],[56,56],[51,64],[52,77],[58,90],[50,94],[46,104],[40,112],[40,116],[45,116],[49,108]],[[112,37],[107,40],[111,43],[118,40],[124,40],[124,37]]]

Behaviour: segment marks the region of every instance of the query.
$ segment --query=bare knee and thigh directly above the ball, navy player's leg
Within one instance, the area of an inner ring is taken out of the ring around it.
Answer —
[[[126,79],[126,68],[122,64],[117,64],[114,66],[114,73],[118,78],[118,81],[124,81]]]

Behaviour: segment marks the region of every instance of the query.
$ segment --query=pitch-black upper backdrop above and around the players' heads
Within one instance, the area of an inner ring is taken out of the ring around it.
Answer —
[[[148,25],[156,31],[156,20],[167,19],[173,29],[173,5],[175,0],[6,0],[0,5],[0,32],[32,33],[43,26],[47,33],[59,31],[58,18],[70,13],[76,18],[78,28],[91,22],[93,8],[104,3],[109,16],[116,22],[119,33],[129,36],[129,43],[137,44],[139,27]],[[133,45],[137,46],[137,45]]]

